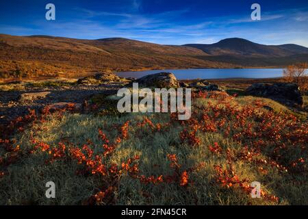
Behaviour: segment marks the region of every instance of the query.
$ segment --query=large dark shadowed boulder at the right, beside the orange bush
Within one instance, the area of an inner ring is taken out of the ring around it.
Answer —
[[[285,105],[303,105],[303,96],[296,83],[254,83],[245,94],[266,97]]]

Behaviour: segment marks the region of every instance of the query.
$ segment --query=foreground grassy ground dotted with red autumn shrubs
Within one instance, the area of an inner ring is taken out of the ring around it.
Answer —
[[[308,204],[307,123],[268,99],[196,94],[183,123],[174,114],[56,113],[15,138],[21,159],[3,170],[2,205]],[[5,164],[14,150],[0,155]],[[44,195],[47,181],[56,184],[55,198]],[[253,181],[261,198],[251,198]]]

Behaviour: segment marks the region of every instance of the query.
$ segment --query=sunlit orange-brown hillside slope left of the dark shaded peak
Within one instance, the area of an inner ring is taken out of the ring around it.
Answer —
[[[77,40],[50,36],[0,35],[0,77],[57,75],[87,71],[235,67],[201,60],[192,47],[164,46],[124,38]]]

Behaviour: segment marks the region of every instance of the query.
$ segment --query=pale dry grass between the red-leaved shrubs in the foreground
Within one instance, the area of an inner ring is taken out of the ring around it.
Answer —
[[[260,99],[248,96],[231,99],[229,103],[237,106],[238,109],[244,109],[247,105],[253,105],[253,102],[257,100]],[[266,99],[262,101],[266,101],[266,104],[271,105],[277,111],[282,111],[285,115],[289,114],[289,111],[279,103]],[[203,110],[208,109],[209,104],[225,107],[225,103],[215,98],[196,98],[194,99],[194,110],[197,110],[198,114],[194,116],[200,116]],[[262,112],[267,113],[268,110],[262,109],[259,113],[262,114]],[[154,126],[161,124],[160,131],[151,128],[149,124],[140,126],[140,123],[144,121],[144,116],[147,116]],[[237,119],[233,116],[229,119],[228,124],[231,127],[237,123]],[[256,127],[261,126],[261,123],[251,118],[248,119]],[[121,127],[127,120],[130,121],[128,138],[123,139],[110,156],[103,158],[104,164],[120,166],[130,157],[138,155],[140,156],[140,174],[155,177],[172,174],[168,154],[177,156],[181,171],[202,165],[189,173],[188,185],[185,186],[179,185],[176,181],[157,185],[144,184],[127,174],[121,175],[112,194],[112,204],[307,205],[308,186],[305,172],[281,172],[275,166],[255,164],[244,159],[232,162],[233,171],[240,179],[259,181],[264,192],[279,197],[278,202],[266,198],[251,198],[243,192],[239,185],[233,185],[231,188],[223,186],[217,181],[218,173],[214,166],[228,169],[230,161],[227,149],[230,149],[233,155],[242,153],[244,145],[250,140],[246,138],[238,142],[230,136],[225,136],[225,129],[205,132],[198,130],[196,138],[200,140],[200,143],[193,146],[180,137],[181,131],[188,127],[185,128],[185,125],[172,120],[169,114],[125,114],[123,116],[64,114],[62,117],[54,114],[48,116],[44,123],[36,123],[25,132],[15,136],[17,141],[14,145],[19,145],[23,151],[33,149],[34,145],[30,140],[34,137],[51,146],[61,141],[71,142],[72,144],[66,144],[69,149],[74,146],[81,147],[87,140],[91,140],[92,150],[99,154],[103,143],[98,138],[98,130],[102,129],[107,138],[113,141],[119,134],[118,127]],[[171,125],[163,125],[165,123]],[[210,149],[209,146],[214,146],[215,143],[221,147],[221,153]],[[285,142],[285,144],[288,145],[290,142]],[[303,155],[296,150],[290,153],[292,153],[290,154],[292,158]],[[5,157],[8,154],[2,150],[0,155]],[[48,153],[36,151],[8,166],[8,172],[0,179],[0,203],[5,205],[79,205],[98,190],[103,189],[101,183],[104,177],[77,175],[76,171],[82,166],[74,160],[57,159],[46,163],[48,157]],[[272,159],[270,153],[266,151],[255,158]],[[260,167],[265,168],[266,173],[260,171]],[[47,181],[54,181],[57,185],[54,199],[44,196],[46,190],[44,185]]]

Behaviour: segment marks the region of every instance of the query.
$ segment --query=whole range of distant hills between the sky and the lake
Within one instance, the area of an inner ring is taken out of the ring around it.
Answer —
[[[214,44],[161,45],[125,38],[79,40],[0,34],[0,77],[81,77],[91,71],[282,67],[308,62],[308,48],[240,38]]]

